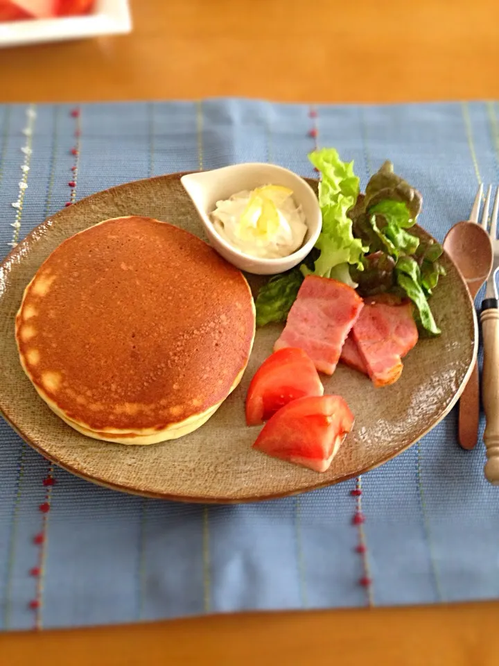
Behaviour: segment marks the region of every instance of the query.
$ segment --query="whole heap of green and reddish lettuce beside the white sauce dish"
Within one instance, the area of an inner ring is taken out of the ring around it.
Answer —
[[[359,194],[353,162],[332,148],[310,153],[322,173],[319,205],[322,230],[315,249],[299,268],[276,275],[256,298],[256,323],[286,321],[304,275],[320,275],[358,287],[361,296],[389,292],[414,302],[419,327],[440,333],[428,296],[445,275],[442,250],[408,230],[421,210],[421,194],[385,162]]]

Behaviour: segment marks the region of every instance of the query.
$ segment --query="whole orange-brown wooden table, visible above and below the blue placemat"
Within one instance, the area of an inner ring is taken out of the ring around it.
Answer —
[[[499,99],[498,0],[136,0],[130,36],[0,50],[0,101]],[[480,567],[480,562],[477,562]],[[499,603],[12,633],[0,663],[498,663]]]

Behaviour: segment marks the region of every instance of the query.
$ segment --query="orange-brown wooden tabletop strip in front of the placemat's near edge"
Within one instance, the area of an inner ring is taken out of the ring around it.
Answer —
[[[252,613],[0,637],[2,666],[496,666],[499,604]]]

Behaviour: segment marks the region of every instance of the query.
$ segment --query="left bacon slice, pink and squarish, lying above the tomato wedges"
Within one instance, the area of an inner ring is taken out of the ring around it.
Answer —
[[[274,350],[303,349],[317,370],[332,375],[363,305],[362,298],[347,284],[307,275]]]

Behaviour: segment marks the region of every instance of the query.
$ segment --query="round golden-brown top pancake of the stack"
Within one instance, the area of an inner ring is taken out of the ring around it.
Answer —
[[[64,241],[16,318],[21,363],[55,411],[160,431],[225,400],[254,339],[248,284],[198,237],[130,216]]]

